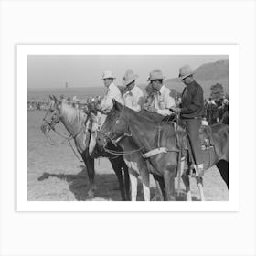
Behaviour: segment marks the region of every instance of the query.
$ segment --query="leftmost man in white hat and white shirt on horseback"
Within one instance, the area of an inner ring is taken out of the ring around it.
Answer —
[[[106,70],[103,72],[102,80],[104,86],[107,88],[106,94],[101,101],[100,109],[102,112],[110,112],[112,109],[112,99],[116,101],[123,102],[122,96],[119,88],[113,83],[115,76],[112,74],[112,71]]]

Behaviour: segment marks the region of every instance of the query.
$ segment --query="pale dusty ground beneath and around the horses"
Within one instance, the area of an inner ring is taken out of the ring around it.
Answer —
[[[69,201],[86,200],[89,180],[84,165],[75,157],[68,143],[50,145],[39,126],[45,112],[27,112],[27,200]],[[66,133],[62,124],[58,131]],[[68,133],[67,133],[68,134]],[[50,133],[56,142],[62,138]],[[95,160],[96,199],[121,200],[117,178],[108,159]],[[229,200],[229,192],[219,172],[212,167],[204,176],[205,197],[207,200]],[[198,200],[195,179],[191,184],[193,200]],[[142,186],[138,189],[138,200],[143,200]],[[152,187],[152,194],[155,187]],[[185,200],[182,194],[176,200]]]

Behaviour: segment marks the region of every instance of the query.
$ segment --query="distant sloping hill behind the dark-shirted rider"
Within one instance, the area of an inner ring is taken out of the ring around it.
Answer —
[[[210,87],[217,82],[221,83],[225,93],[229,93],[229,60],[222,59],[216,62],[205,63],[195,70],[195,79],[202,86],[205,97],[210,95]],[[182,91],[184,84],[177,78],[165,80],[170,89]]]

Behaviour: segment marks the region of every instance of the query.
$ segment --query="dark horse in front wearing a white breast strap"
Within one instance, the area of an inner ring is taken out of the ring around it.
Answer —
[[[212,125],[211,129],[215,155],[208,167],[217,165],[229,187],[229,127],[219,123]],[[141,154],[154,167],[153,175],[162,180],[164,185],[162,191],[165,199],[175,200],[175,176],[179,165],[175,126],[155,122],[155,119],[145,116],[144,112],[134,112],[113,101],[112,111],[102,125],[101,133],[98,133],[97,142],[104,147],[108,141],[119,141],[124,134],[132,136],[134,144],[141,149]],[[189,187],[189,179],[183,180],[186,188]]]

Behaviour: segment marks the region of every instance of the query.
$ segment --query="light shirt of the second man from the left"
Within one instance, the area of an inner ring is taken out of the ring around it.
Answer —
[[[144,97],[144,92],[135,85],[132,90],[126,91],[123,94],[123,104],[133,111],[139,112],[141,110],[141,106],[139,105],[139,99],[141,97]]]

